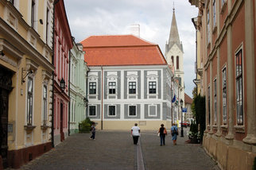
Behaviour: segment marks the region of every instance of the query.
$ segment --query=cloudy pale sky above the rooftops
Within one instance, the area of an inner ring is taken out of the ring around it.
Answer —
[[[158,44],[165,54],[165,43],[173,17],[184,48],[185,93],[192,97],[196,78],[196,29],[192,17],[195,6],[188,0],[64,0],[68,23],[76,43],[92,35],[130,34],[130,25],[140,25],[140,37]]]

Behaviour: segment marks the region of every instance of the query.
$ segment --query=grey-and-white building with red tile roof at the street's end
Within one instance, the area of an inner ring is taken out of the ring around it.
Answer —
[[[133,35],[91,36],[85,51],[87,117],[98,129],[170,127],[172,77],[157,44]]]

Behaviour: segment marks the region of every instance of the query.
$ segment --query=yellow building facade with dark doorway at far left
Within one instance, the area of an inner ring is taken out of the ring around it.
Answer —
[[[52,0],[0,0],[0,169],[52,148]]]

